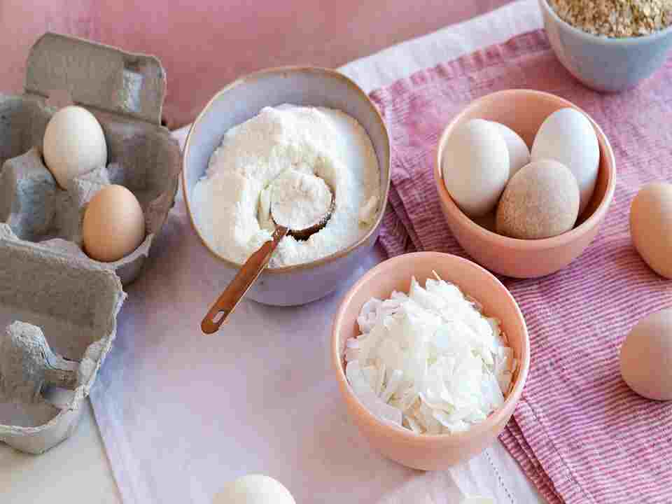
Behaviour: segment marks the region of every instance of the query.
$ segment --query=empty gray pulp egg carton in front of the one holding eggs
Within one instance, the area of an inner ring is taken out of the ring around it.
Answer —
[[[0,224],[0,441],[33,454],[75,430],[125,300],[109,267]]]

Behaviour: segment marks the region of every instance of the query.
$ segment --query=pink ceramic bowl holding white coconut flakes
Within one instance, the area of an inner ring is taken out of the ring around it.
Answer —
[[[354,395],[344,371],[346,339],[359,335],[357,316],[371,297],[385,299],[393,290],[408,292],[411,276],[424,285],[437,272],[483,305],[484,314],[499,318],[519,362],[512,389],[503,406],[465,433],[419,435],[384,423]],[[509,421],[530,367],[530,342],[524,318],[508,290],[491,273],[473,262],[440,252],[398,255],[367,272],[342,300],[332,332],[332,362],[346,407],[374,449],[410,468],[442,470],[479,454],[502,432]]]

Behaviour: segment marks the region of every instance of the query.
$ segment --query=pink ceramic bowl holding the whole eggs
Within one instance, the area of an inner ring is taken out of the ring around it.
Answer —
[[[465,216],[451,199],[441,173],[442,148],[451,132],[461,123],[481,118],[497,121],[517,132],[532,146],[541,123],[558,109],[572,107],[566,99],[533,90],[507,90],[488,94],[472,102],[446,127],[436,153],[434,179],[441,209],[453,235],[467,253],[493,272],[515,278],[545,276],[562,269],[590,244],[607,213],[616,187],[616,166],[609,141],[590,119],[600,146],[600,167],[593,199],[577,225],[562,235],[537,239],[514,239],[489,231]]]

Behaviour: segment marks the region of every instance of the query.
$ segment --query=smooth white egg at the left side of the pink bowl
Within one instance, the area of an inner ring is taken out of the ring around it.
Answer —
[[[442,151],[446,190],[469,217],[492,211],[509,179],[509,152],[495,125],[472,119],[458,125]]]

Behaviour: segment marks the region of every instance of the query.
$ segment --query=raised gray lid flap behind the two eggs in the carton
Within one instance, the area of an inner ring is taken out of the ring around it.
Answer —
[[[26,64],[25,93],[161,124],[166,74],[155,56],[124,52],[83,38],[47,32]]]

